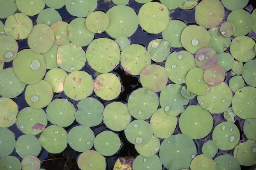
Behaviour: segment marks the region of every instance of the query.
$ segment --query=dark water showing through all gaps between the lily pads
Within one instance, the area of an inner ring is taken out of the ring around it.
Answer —
[[[157,1],[157,0],[154,0]],[[256,7],[256,3],[253,2],[254,0],[250,0],[249,4],[246,7],[247,11],[252,11],[253,8]],[[130,3],[128,4],[128,6],[130,6],[131,8],[133,8],[137,14],[139,13],[140,7],[143,4],[137,3],[135,2],[135,0],[130,0]],[[96,8],[96,11],[104,11],[107,12],[112,6],[114,6],[114,4],[112,2],[108,2],[106,0],[98,0],[98,6]],[[46,8],[48,8],[46,6]],[[70,15],[66,8],[63,7],[61,9],[57,9],[57,11],[59,12],[59,14],[61,14],[62,17],[62,21],[65,21],[67,23],[70,23],[70,21],[72,21],[75,17]],[[230,13],[231,11],[226,10],[225,11],[225,17],[224,20],[227,19],[227,15]],[[178,19],[178,20],[183,20],[186,24],[191,25],[191,24],[195,24],[195,8],[191,9],[191,10],[181,10],[180,8],[177,8],[175,10],[173,10],[170,14],[170,17],[172,19]],[[34,17],[30,17],[34,23],[34,25],[36,25],[36,18],[37,15]],[[5,23],[5,20],[2,20],[3,23]],[[248,35],[249,37],[252,37],[254,40],[256,39],[256,34],[254,33],[249,33]],[[103,32],[102,34],[95,34],[95,38],[111,38],[106,32]],[[131,36],[129,37],[131,44],[140,44],[143,45],[145,47],[148,46],[148,43],[151,42],[151,40],[155,40],[158,38],[162,38],[162,34],[148,34],[145,31],[143,31],[143,29],[139,26],[137,28],[137,31]],[[111,38],[112,39],[112,38]],[[22,49],[26,49],[29,48],[28,47],[28,43],[27,40],[19,40],[18,41],[18,45],[19,45],[19,51]],[[83,48],[85,51],[87,49],[87,47]],[[184,50],[183,48],[172,48],[172,52],[173,51],[181,51]],[[229,49],[227,50],[227,52],[229,52]],[[158,65],[162,65],[164,66],[165,63],[155,63],[152,61],[153,64],[158,64]],[[4,64],[4,68],[8,68],[8,67],[12,67],[12,62],[7,62]],[[93,79],[95,79],[97,77],[97,72],[94,71],[90,65],[86,62],[85,67],[83,68],[83,71],[88,72],[90,75],[92,75]],[[137,88],[141,88],[142,85],[140,84],[140,80],[138,76],[131,76],[130,74],[126,74],[125,71],[122,70],[121,67],[117,67],[115,68],[113,71],[111,71],[112,73],[115,73],[119,79],[121,80],[122,83],[122,91],[121,94],[114,99],[113,101],[118,101],[118,102],[123,102],[125,104],[127,104],[128,101],[128,96],[131,94],[132,91],[136,90]],[[227,72],[226,73],[226,79],[225,82],[228,82],[230,80],[230,78],[232,77],[231,72]],[[172,83],[170,80],[168,82]],[[159,96],[160,93],[157,93],[157,95]],[[98,98],[96,96],[96,94],[92,94],[92,97],[98,99],[99,101],[101,101],[105,106],[108,105],[108,103],[110,103],[109,101],[103,101],[102,99]],[[54,94],[53,99],[58,99],[58,98],[63,98],[63,99],[68,99],[68,97],[64,94],[64,92],[60,93],[60,94]],[[72,99],[68,99],[71,103],[73,103],[73,105],[76,107],[78,101],[73,101]],[[14,101],[17,103],[18,105],[18,109],[19,111],[22,110],[23,108],[28,107],[29,105],[27,104],[25,97],[24,97],[24,91],[22,94],[20,94],[20,96],[17,96]],[[111,101],[111,102],[113,102]],[[189,101],[189,105],[199,105],[196,98],[191,99]],[[188,107],[185,106],[185,108]],[[44,111],[46,111],[46,108],[43,108]],[[214,127],[216,125],[218,125],[221,122],[225,122],[226,120],[223,117],[223,113],[221,114],[212,114],[213,119],[214,119]],[[179,116],[177,116],[177,118],[179,119]],[[243,124],[244,124],[244,120],[240,119],[239,117],[235,117],[236,120],[236,126],[239,128],[240,130],[240,135],[241,135],[241,139],[240,141],[246,141],[247,138],[245,137],[245,135],[243,134]],[[149,122],[149,120],[147,120]],[[47,126],[51,125],[50,123],[48,123]],[[77,122],[74,122],[72,125],[70,125],[69,127],[65,127],[65,130],[69,130],[70,127],[76,126],[78,125]],[[213,129],[214,129],[213,127]],[[11,127],[9,127],[10,130],[12,130],[12,132],[15,133],[15,138],[17,139],[19,136],[23,135],[23,133],[17,128],[16,124],[12,125]],[[95,136],[105,130],[110,130],[108,129],[108,127],[106,127],[103,123],[96,126],[96,127],[92,127],[91,128],[94,133]],[[213,131],[212,129],[212,131]],[[175,133],[174,134],[178,134],[181,133],[179,126],[177,125]],[[121,132],[117,132],[116,134],[119,135],[120,140],[122,142],[122,147],[121,149],[114,154],[113,156],[107,156],[106,160],[107,160],[107,169],[108,170],[112,170],[113,166],[115,164],[116,159],[118,159],[120,156],[137,156],[138,153],[134,148],[134,145],[131,144],[130,142],[128,142],[125,139],[125,134],[123,131]],[[39,138],[40,135],[37,135],[37,137]],[[203,146],[203,144],[207,141],[207,140],[212,140],[212,132],[206,136],[204,139],[198,139],[198,140],[194,140],[195,144],[198,148],[198,152],[197,154],[202,154],[201,148]],[[160,139],[160,141],[162,142],[163,139]],[[94,148],[93,148],[94,150]],[[158,154],[158,153],[157,153]],[[222,155],[222,154],[230,154],[233,155],[233,150],[230,151],[222,151],[219,150],[217,155],[213,158],[215,159],[217,156]],[[13,156],[16,156],[17,158],[19,158],[20,160],[22,160],[17,153],[15,152],[15,150],[13,151],[13,153],[11,154]],[[79,155],[79,152],[76,152],[75,150],[73,150],[69,145],[67,146],[67,148],[58,154],[51,154],[48,153],[46,150],[44,150],[42,148],[41,153],[39,154],[39,159],[41,161],[41,167],[45,168],[47,170],[79,170],[79,167],[76,164],[76,158]],[[53,159],[53,160],[48,160],[48,159]],[[163,169],[165,170],[166,168],[163,167]],[[243,167],[241,166],[241,170],[253,170],[254,168],[252,167]]]

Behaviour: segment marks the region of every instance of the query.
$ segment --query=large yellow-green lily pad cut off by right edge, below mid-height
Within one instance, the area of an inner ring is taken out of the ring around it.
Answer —
[[[256,118],[256,89],[244,87],[236,91],[232,99],[233,110],[242,119]]]

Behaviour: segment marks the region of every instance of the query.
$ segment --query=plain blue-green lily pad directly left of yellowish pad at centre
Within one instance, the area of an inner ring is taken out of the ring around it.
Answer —
[[[96,126],[103,119],[103,105],[99,100],[87,97],[77,104],[76,121],[84,126]],[[84,119],[85,118],[85,119]]]

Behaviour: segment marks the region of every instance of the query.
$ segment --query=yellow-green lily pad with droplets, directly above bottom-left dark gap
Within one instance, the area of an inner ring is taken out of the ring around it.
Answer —
[[[48,126],[41,133],[39,142],[49,153],[61,153],[67,147],[67,132],[56,125]]]

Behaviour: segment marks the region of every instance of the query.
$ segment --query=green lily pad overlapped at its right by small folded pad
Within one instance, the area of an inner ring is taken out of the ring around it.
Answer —
[[[161,108],[171,116],[177,116],[182,113],[185,110],[183,105],[189,103],[189,99],[182,96],[181,88],[181,85],[169,84],[161,91]]]

